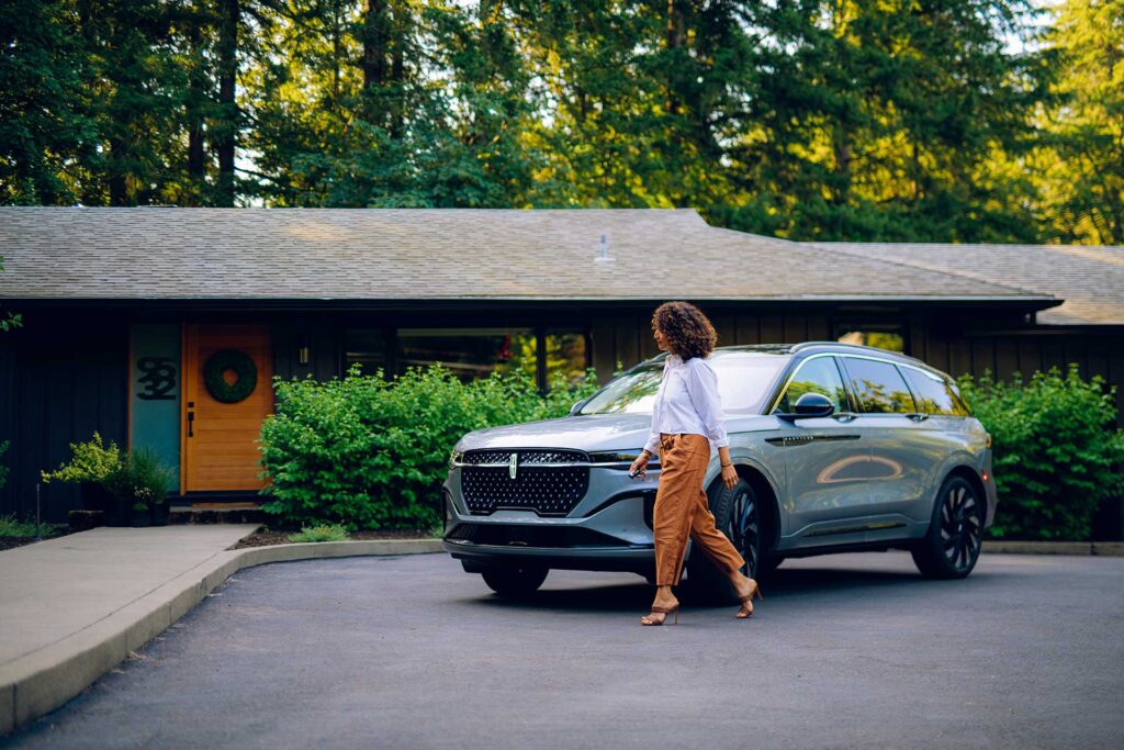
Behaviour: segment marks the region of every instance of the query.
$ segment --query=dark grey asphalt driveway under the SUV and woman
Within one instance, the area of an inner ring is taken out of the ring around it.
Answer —
[[[552,572],[526,603],[445,555],[242,571],[17,748],[1124,744],[1124,559],[787,561],[749,621]]]

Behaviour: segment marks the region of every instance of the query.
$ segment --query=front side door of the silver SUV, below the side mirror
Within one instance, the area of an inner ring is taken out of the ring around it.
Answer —
[[[785,463],[786,497],[781,512],[789,532],[778,549],[862,541],[853,519],[869,506],[870,448],[853,424],[856,414],[832,354],[814,354],[796,365],[774,413],[788,413],[808,392],[835,406],[830,417],[780,421],[779,434],[767,439]]]

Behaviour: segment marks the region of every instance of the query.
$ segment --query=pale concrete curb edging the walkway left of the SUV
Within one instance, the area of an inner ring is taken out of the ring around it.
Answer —
[[[0,669],[0,738],[73,698],[244,568],[293,560],[442,551],[441,540],[361,540],[221,552],[49,649]]]

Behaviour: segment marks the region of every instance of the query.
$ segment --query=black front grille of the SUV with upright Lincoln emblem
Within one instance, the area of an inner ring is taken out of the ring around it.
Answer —
[[[582,451],[488,449],[466,452],[461,463],[466,464],[461,469],[461,491],[473,515],[511,508],[564,516],[589,489],[589,455]]]

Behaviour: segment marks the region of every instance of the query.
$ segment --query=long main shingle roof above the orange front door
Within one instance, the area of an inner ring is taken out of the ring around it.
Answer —
[[[608,255],[597,261],[600,237]],[[0,208],[0,296],[1027,299],[960,273],[710,227],[694,210]]]

